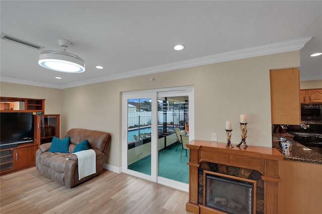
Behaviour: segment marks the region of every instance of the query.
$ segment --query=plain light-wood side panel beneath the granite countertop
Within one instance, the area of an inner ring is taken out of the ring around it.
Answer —
[[[278,213],[322,213],[322,165],[279,161]]]

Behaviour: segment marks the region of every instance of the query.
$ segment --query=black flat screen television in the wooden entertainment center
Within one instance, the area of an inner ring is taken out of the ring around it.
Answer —
[[[0,148],[16,147],[33,141],[33,116],[31,112],[0,113]]]

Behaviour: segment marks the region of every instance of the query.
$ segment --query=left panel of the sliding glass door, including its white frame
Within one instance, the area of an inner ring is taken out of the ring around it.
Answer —
[[[133,94],[123,96],[123,171],[152,179],[152,96]],[[124,121],[124,120],[123,120]],[[125,152],[125,153],[124,153]]]

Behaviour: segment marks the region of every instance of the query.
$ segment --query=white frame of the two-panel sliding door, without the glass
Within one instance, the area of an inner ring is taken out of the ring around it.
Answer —
[[[157,98],[159,95],[169,95],[171,96],[189,96],[189,138],[194,139],[194,87],[184,86],[184,87],[174,87],[174,88],[163,88],[163,89],[153,89],[153,90],[143,90],[143,91],[132,91],[122,93],[122,172],[130,174],[145,180],[160,183],[175,189],[182,191],[189,191],[189,184],[185,184],[179,181],[174,181],[171,179],[158,177],[157,176]],[[151,175],[136,172],[128,169],[127,161],[127,100],[131,98],[151,98]],[[155,112],[156,111],[156,112]]]

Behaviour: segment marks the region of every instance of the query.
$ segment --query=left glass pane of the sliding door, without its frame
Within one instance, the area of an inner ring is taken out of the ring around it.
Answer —
[[[127,99],[127,169],[151,175],[151,98]]]

